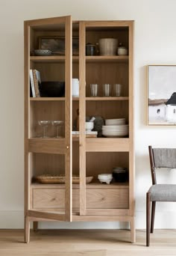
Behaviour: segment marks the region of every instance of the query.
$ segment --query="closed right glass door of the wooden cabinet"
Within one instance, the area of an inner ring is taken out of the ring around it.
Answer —
[[[80,215],[127,216],[133,208],[131,22],[83,21],[79,31]],[[85,135],[92,118],[96,138]],[[124,180],[113,177],[116,169]]]

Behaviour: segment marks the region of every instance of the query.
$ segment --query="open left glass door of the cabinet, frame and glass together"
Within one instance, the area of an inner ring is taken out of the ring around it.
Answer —
[[[71,81],[71,16],[26,21],[25,216],[31,218],[72,221]]]

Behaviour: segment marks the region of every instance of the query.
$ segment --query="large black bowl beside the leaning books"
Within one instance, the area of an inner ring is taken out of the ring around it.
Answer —
[[[64,97],[65,82],[48,81],[40,84],[41,97]]]

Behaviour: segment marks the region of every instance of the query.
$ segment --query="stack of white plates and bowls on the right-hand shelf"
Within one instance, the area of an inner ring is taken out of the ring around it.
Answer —
[[[125,124],[125,118],[121,119],[106,119],[102,126],[102,135],[105,137],[125,137],[128,135],[129,126]]]

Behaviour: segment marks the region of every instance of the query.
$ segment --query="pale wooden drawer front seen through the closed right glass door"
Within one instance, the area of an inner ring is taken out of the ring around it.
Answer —
[[[128,209],[128,189],[87,189],[87,208]]]

